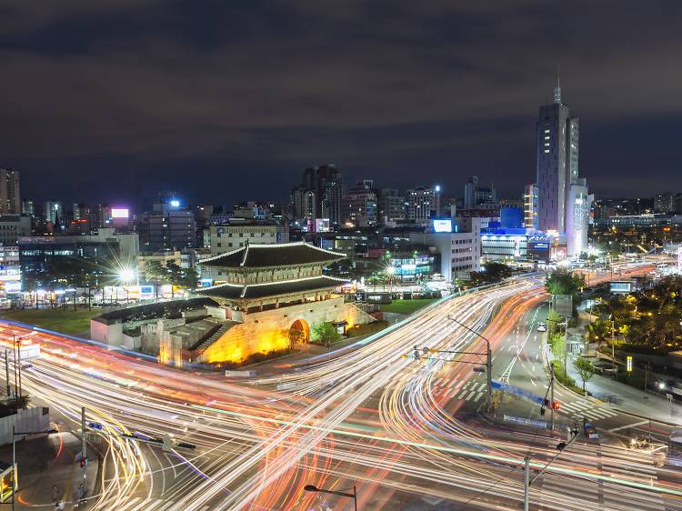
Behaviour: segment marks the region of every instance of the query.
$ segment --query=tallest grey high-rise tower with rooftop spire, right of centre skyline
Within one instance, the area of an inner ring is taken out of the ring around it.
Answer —
[[[568,255],[579,255],[587,247],[592,195],[578,177],[578,119],[561,101],[558,83],[554,103],[540,106],[536,136],[537,228],[566,234]]]

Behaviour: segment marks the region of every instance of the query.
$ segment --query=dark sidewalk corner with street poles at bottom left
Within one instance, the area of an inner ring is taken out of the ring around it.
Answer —
[[[55,509],[54,486],[65,509],[74,509],[78,486],[83,481],[82,469],[75,463],[81,450],[80,438],[69,432],[53,435],[29,436],[16,442],[16,508]],[[98,462],[89,456],[87,466],[87,495],[95,492]],[[0,459],[12,463],[12,445],[0,447]],[[87,508],[86,505],[79,509]]]

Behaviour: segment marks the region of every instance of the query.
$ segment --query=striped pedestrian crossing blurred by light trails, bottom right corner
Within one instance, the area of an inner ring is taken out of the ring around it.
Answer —
[[[647,486],[657,485],[657,469],[650,455],[622,453],[603,446],[574,444],[562,455],[565,460],[600,476],[602,479],[583,479],[547,473],[537,485],[543,496],[550,498],[576,498],[586,509],[639,511],[665,511],[663,498]],[[642,485],[626,486],[629,481]],[[539,506],[539,509],[542,509]]]

